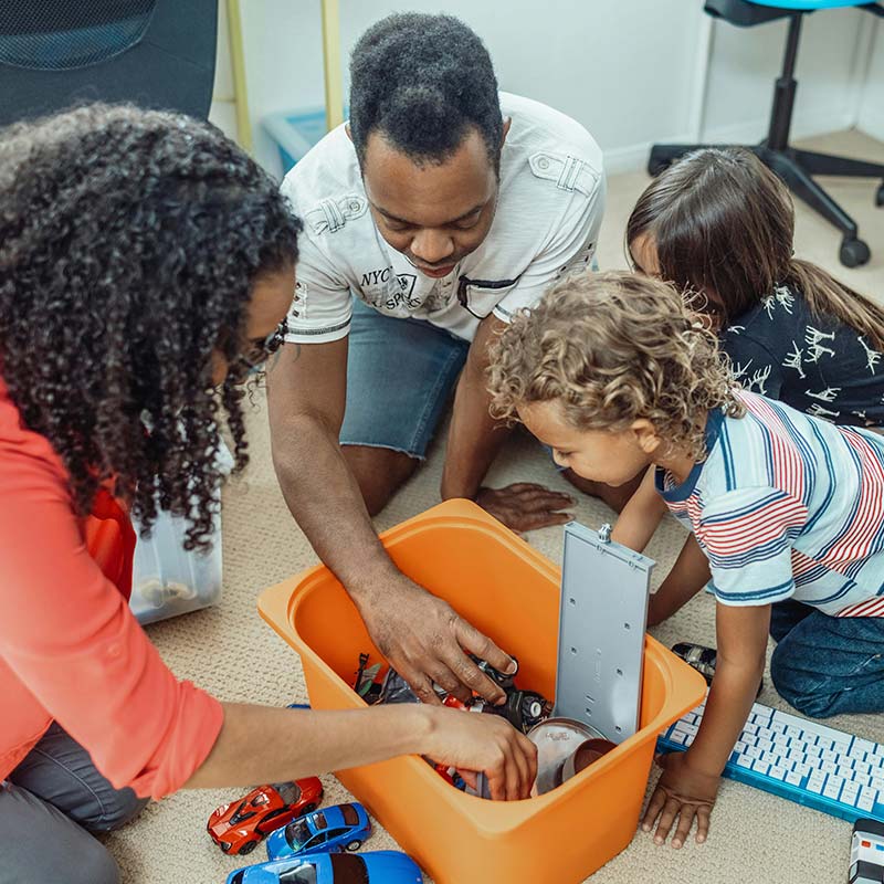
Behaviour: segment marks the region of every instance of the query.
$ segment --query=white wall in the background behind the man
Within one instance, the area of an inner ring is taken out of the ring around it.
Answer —
[[[439,0],[340,0],[345,64],[373,21],[397,10],[438,12],[440,6]],[[702,0],[444,3],[445,12],[462,18],[485,41],[501,86],[579,119],[606,151],[612,172],[641,168],[654,141],[764,137],[786,22],[735,28],[711,21],[702,8]],[[322,105],[319,3],[241,0],[241,13],[254,150],[278,172],[261,119]],[[884,127],[884,28],[869,71],[870,78],[877,77],[877,90],[864,86],[873,25],[871,15],[855,10],[806,18],[793,123],[798,137],[846,128],[857,115],[870,131]],[[222,39],[217,97],[232,92],[225,32]],[[345,92],[348,86],[345,72]],[[230,105],[217,102],[213,118],[233,126]]]

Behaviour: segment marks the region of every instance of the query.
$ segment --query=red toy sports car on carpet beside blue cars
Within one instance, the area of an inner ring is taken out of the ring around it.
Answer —
[[[224,853],[251,853],[274,829],[316,810],[323,783],[316,777],[296,782],[259,786],[245,798],[221,804],[209,817],[206,831]]]

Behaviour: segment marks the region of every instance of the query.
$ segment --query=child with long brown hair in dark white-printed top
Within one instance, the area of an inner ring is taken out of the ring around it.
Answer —
[[[639,197],[635,269],[711,315],[744,388],[853,427],[884,427],[884,311],[794,256],[786,186],[753,152],[687,155]]]

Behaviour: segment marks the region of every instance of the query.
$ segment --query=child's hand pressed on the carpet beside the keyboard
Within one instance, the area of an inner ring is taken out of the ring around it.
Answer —
[[[665,844],[677,817],[678,825],[672,836],[672,846],[677,849],[687,840],[696,818],[696,842],[702,844],[709,833],[709,815],[718,794],[720,776],[695,769],[690,750],[662,755],[656,761],[663,768],[663,776],[648,803],[642,830],[650,832],[656,822],[654,842]]]

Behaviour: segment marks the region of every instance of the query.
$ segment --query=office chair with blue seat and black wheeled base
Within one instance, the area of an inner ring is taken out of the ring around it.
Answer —
[[[776,2],[776,6],[775,6]],[[767,138],[758,145],[747,145],[758,158],[789,188],[843,234],[839,257],[846,267],[857,267],[871,257],[869,245],[860,239],[856,222],[813,180],[814,175],[842,175],[851,178],[881,178],[882,185],[875,194],[875,203],[884,206],[884,164],[863,162],[846,157],[833,157],[811,150],[798,150],[789,146],[789,128],[792,122],[792,104],[798,85],[794,64],[798,40],[803,15],[818,9],[856,7],[875,15],[884,17],[884,7],[862,0],[706,0],[705,10],[715,18],[724,19],[741,28],[789,19],[782,74],[774,90],[774,107]],[[650,175],[659,175],[678,157],[691,150],[712,145],[654,145],[648,161]]]

